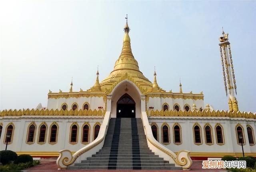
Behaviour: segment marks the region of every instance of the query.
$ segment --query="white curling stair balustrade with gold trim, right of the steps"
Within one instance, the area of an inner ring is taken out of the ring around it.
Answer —
[[[153,136],[151,127],[148,122],[148,116],[146,111],[141,112],[142,123],[144,132],[147,138],[148,147],[152,152],[157,154],[159,157],[168,160],[169,163],[175,163],[176,166],[182,166],[184,170],[189,169],[192,165],[192,159],[190,158],[190,151],[182,150],[176,155],[170,149],[160,144]]]

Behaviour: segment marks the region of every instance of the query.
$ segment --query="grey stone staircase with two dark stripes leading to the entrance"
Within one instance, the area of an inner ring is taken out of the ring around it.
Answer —
[[[136,118],[110,119],[102,149],[68,169],[182,170],[150,151],[142,121]]]

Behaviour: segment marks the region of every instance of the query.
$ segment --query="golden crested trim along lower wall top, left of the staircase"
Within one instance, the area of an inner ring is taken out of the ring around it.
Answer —
[[[0,112],[0,117],[5,117],[5,116],[103,116],[103,114],[106,112],[106,110],[92,110],[89,109],[87,110],[82,110],[80,109],[73,111],[72,109],[70,110],[65,110],[63,111],[62,109],[23,109],[23,110],[3,110]]]

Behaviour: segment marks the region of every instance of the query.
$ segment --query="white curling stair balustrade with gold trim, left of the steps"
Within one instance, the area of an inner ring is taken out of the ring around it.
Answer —
[[[100,131],[98,137],[89,143],[85,147],[79,149],[74,154],[70,150],[62,150],[59,151],[59,157],[56,160],[56,164],[58,166],[58,170],[66,169],[68,166],[81,162],[82,159],[92,156],[96,154],[100,149],[102,149],[106,133],[108,131],[108,123],[110,120],[110,111],[106,111],[102,125],[100,126]]]

